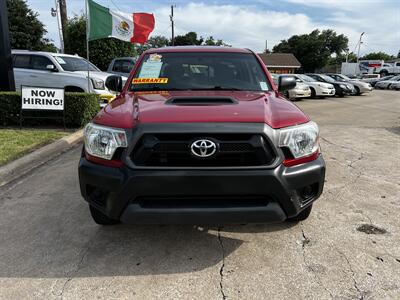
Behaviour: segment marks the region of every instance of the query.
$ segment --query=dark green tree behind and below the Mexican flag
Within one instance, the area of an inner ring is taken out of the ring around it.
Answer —
[[[66,28],[68,44],[65,53],[78,54],[86,57],[86,19],[84,16],[75,16],[68,20]],[[101,70],[106,70],[115,57],[137,56],[132,43],[114,38],[106,38],[89,42],[90,61]]]

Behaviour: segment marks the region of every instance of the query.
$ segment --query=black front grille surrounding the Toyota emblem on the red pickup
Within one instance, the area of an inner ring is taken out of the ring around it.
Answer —
[[[190,146],[198,139],[215,142],[216,154],[194,156]],[[135,165],[148,167],[234,167],[269,165],[275,154],[261,134],[157,133],[143,135],[131,158]]]

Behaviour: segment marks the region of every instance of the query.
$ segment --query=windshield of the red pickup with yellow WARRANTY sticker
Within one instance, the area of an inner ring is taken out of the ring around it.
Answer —
[[[130,86],[131,91],[270,89],[253,54],[226,52],[147,54]]]

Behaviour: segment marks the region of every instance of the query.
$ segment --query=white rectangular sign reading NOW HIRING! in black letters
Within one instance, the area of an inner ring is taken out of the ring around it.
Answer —
[[[64,110],[64,89],[22,86],[22,109]]]

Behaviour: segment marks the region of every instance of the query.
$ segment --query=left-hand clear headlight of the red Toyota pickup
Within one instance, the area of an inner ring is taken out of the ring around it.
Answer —
[[[86,125],[84,139],[88,154],[107,160],[112,159],[117,148],[128,145],[125,130],[93,123]]]

